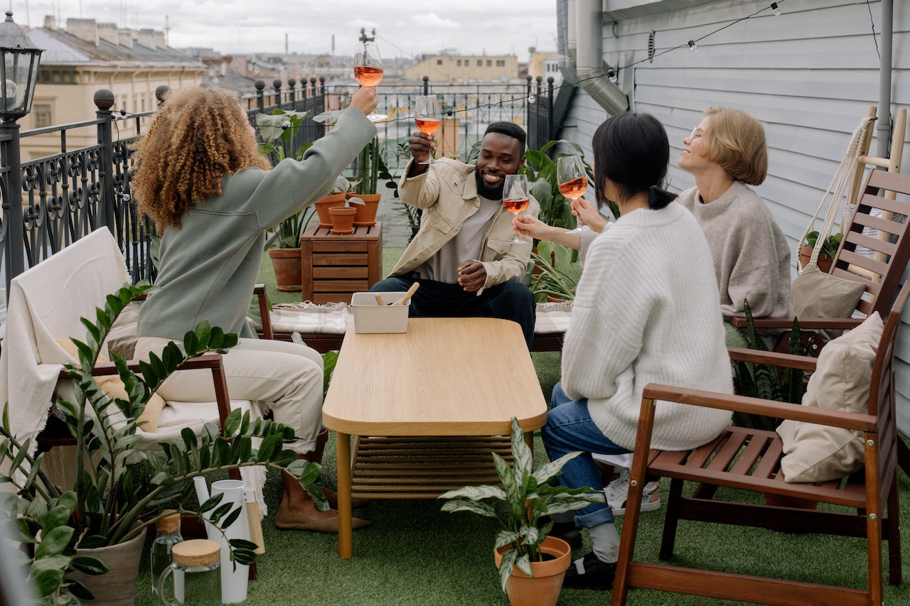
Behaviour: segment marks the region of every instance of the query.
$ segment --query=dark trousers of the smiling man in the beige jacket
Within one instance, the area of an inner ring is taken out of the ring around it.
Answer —
[[[420,288],[410,298],[410,318],[503,318],[521,325],[524,340],[531,348],[534,338],[536,304],[531,289],[509,280],[494,287],[484,288],[478,296],[465,292],[458,284],[446,284],[418,278],[410,273],[405,276],[379,280],[369,290],[389,292],[407,290],[415,281]]]

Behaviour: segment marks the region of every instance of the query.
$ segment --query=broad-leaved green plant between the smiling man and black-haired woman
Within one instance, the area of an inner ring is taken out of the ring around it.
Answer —
[[[528,176],[531,196],[541,205],[541,212],[538,218],[553,227],[573,229],[578,226],[578,220],[571,214],[571,207],[569,207],[566,197],[563,197],[560,193],[556,162],[548,155],[551,148],[558,145],[569,146],[581,154],[581,160],[584,162],[588,173],[588,184],[591,187],[594,182],[594,174],[591,166],[584,160],[581,146],[566,139],[553,139],[540,149],[527,150],[525,152],[526,162],[523,167],[519,168],[519,172]],[[619,207],[616,207],[613,202],[609,202],[609,204],[613,217],[619,217]],[[539,241],[535,240],[534,245],[537,246],[538,244]]]

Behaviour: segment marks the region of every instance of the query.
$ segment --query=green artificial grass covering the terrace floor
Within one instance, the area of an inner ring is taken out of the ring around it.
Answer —
[[[383,267],[387,272],[401,250],[383,250]],[[267,283],[270,300],[299,300],[299,293],[278,293],[273,276],[269,285],[270,269],[268,259],[264,259],[260,281]],[[552,385],[560,376],[559,353],[534,353],[532,359],[541,389],[549,398]],[[546,457],[539,436],[534,440],[534,457],[538,464]],[[335,471],[335,435],[330,431],[322,473],[328,486],[336,486]],[[910,480],[903,473],[899,475],[899,487],[903,497],[901,515],[908,520]],[[664,492],[669,489],[666,481],[663,489]],[[497,531],[493,520],[470,513],[443,513],[437,500],[374,500],[367,507],[355,510],[356,516],[373,523],[354,532],[354,557],[340,560],[336,535],[275,529],[274,512],[280,490],[278,473],[270,471],[264,490],[270,508],[263,520],[267,552],[258,558],[259,576],[249,585],[246,604],[506,606],[509,603],[500,590],[493,567],[493,538]],[[646,561],[657,561],[663,512],[662,508],[642,514],[636,553]],[[622,530],[622,518],[617,520],[617,525]],[[905,544],[910,539],[907,527],[905,523],[901,530]],[[573,555],[581,557],[587,550],[590,541],[585,536],[584,546]],[[692,521],[680,522],[672,563],[854,587],[864,587],[866,583],[864,540]],[[137,606],[155,603],[148,576],[146,551],[140,565]],[[559,605],[602,606],[609,600],[608,591],[563,589]],[[732,602],[632,590],[629,603],[701,606]],[[910,583],[894,588],[885,581],[885,603],[910,603]]]

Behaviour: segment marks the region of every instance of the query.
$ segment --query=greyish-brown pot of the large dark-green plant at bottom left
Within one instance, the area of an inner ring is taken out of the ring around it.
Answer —
[[[103,561],[105,574],[92,576],[82,572],[70,572],[68,577],[81,582],[92,592],[95,600],[83,603],[97,606],[132,606],[136,596],[136,577],[139,574],[139,560],[146,544],[146,530],[135,539],[125,543],[99,547],[93,550],[76,550],[76,556],[92,557]]]

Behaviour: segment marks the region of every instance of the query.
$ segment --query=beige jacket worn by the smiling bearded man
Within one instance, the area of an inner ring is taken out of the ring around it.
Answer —
[[[413,161],[411,158],[410,162]],[[405,204],[422,208],[423,217],[417,236],[392,268],[391,276],[400,276],[420,267],[455,237],[464,220],[480,208],[474,165],[443,158],[417,177],[408,177],[409,169],[410,163],[399,181],[399,196]],[[537,200],[531,197],[524,214],[537,217],[540,210]],[[523,244],[508,243],[512,239],[512,217],[509,211],[500,208],[484,234],[480,258],[477,259],[487,270],[483,288],[506,280],[521,280],[527,271],[531,259],[531,239]]]

